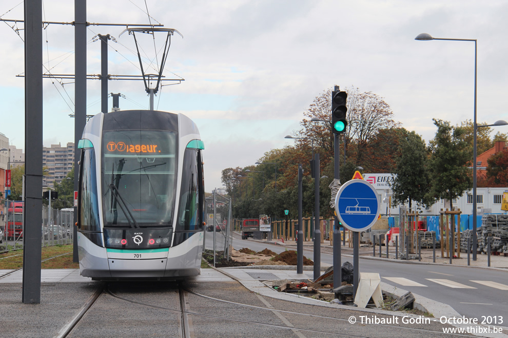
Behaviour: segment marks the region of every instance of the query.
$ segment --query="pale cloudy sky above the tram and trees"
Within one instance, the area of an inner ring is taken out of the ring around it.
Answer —
[[[23,2],[0,0],[0,17],[23,20]],[[87,1],[87,21],[101,24],[162,24],[174,34],[154,99],[157,110],[194,120],[205,144],[205,190],[220,188],[221,171],[245,167],[271,149],[294,141],[316,96],[340,86],[373,92],[390,105],[394,119],[426,141],[433,118],[453,125],[474,118],[475,43],[417,41],[477,39],[478,124],[508,120],[508,2],[331,0],[110,0]],[[73,22],[74,2],[43,1],[43,20]],[[25,149],[23,23],[0,23],[0,132]],[[108,73],[141,75],[132,35],[122,26],[87,29],[87,74],[101,72],[100,41],[110,34]],[[161,60],[165,34],[139,39],[146,59]],[[74,73],[74,28],[43,30],[44,67]],[[157,53],[156,53],[157,51]],[[155,55],[158,55],[155,58]],[[145,64],[144,67],[148,67]],[[154,69],[148,68],[150,73]],[[44,146],[74,141],[73,80],[44,79]],[[148,109],[142,81],[109,81],[121,93],[120,108]],[[100,81],[87,81],[87,114],[100,113]],[[108,108],[111,109],[111,99]],[[503,129],[504,128],[504,129]],[[508,132],[504,127],[496,132]]]

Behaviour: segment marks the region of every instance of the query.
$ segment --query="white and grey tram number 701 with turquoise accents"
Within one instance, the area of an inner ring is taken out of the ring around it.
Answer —
[[[77,245],[82,276],[175,279],[201,271],[203,141],[182,114],[97,114],[81,149]]]

